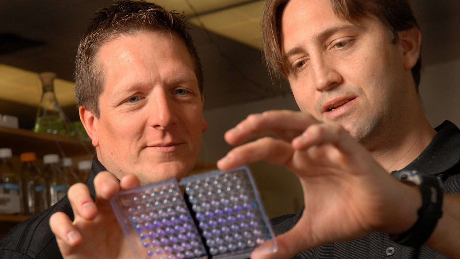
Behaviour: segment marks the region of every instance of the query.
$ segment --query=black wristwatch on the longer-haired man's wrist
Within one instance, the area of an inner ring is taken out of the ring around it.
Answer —
[[[418,185],[422,193],[422,207],[419,209],[419,219],[408,231],[391,235],[390,239],[409,247],[420,247],[431,236],[437,220],[443,215],[443,184],[433,175],[415,170],[394,171],[393,177],[407,184]]]

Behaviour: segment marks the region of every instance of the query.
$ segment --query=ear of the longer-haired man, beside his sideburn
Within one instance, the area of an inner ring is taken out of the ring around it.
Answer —
[[[422,43],[422,35],[417,26],[412,29],[399,31],[399,40],[403,46],[403,63],[404,69],[412,69],[420,56],[420,45]]]

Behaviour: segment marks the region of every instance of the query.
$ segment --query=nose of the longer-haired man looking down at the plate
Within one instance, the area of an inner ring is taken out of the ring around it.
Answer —
[[[338,64],[327,57],[311,59],[311,76],[318,92],[327,91],[337,86],[342,77],[337,71]]]

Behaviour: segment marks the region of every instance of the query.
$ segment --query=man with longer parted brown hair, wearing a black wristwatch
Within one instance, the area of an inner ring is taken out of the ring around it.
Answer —
[[[305,206],[253,259],[460,258],[460,130],[423,113],[420,42],[408,0],[268,0],[265,57],[302,112],[249,115],[218,166],[285,165]]]

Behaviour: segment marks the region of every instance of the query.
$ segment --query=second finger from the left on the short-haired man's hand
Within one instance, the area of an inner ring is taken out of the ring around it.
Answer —
[[[94,204],[86,184],[78,183],[70,186],[67,192],[70,206],[74,211],[75,219],[82,217],[87,220],[94,219],[98,209]]]

